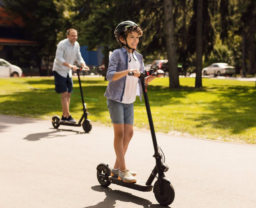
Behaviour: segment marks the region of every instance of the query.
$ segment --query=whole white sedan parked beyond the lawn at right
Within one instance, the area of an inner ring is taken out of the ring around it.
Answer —
[[[202,75],[229,75],[235,74],[235,67],[230,66],[227,63],[213,63],[208,67],[203,68]]]

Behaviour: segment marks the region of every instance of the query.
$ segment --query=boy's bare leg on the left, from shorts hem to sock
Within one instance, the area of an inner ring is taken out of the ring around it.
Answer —
[[[116,160],[118,163],[115,163],[114,168],[120,168],[121,170],[126,169],[125,160],[124,160],[124,124],[115,124],[114,127],[114,149]],[[117,166],[118,165],[118,166]]]

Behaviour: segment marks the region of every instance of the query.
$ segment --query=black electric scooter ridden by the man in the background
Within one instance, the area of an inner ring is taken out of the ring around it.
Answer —
[[[80,93],[81,93],[81,97],[82,97],[83,115],[77,124],[76,123],[60,122],[60,116],[57,116],[57,115],[53,116],[51,118],[51,122],[55,129],[57,129],[60,125],[65,125],[65,126],[81,126],[82,125],[82,127],[86,133],[88,133],[92,129],[90,119],[87,118],[87,116],[89,115],[89,112],[87,111],[86,103],[85,103],[84,97],[83,97],[82,85],[81,85],[81,80],[80,80],[80,75],[79,75],[79,72],[81,70],[82,70],[82,68],[77,69],[77,77],[78,77]],[[89,70],[87,70],[87,71],[89,71]],[[85,119],[85,120],[82,123],[83,119]]]

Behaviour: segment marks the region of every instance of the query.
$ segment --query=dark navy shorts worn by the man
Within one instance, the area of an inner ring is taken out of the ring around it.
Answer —
[[[67,74],[67,77],[59,75],[56,71],[53,71],[55,91],[57,93],[73,92],[73,80]]]

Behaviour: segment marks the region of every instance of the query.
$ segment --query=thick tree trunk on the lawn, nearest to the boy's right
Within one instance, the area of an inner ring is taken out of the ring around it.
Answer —
[[[173,0],[164,0],[164,32],[168,57],[169,87],[180,88],[174,36]]]

